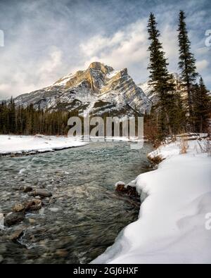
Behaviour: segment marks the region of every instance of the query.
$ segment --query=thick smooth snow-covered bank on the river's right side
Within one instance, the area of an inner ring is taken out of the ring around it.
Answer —
[[[211,157],[197,141],[188,146],[186,154],[178,142],[151,153],[165,160],[134,181],[148,196],[139,220],[92,263],[210,263]]]

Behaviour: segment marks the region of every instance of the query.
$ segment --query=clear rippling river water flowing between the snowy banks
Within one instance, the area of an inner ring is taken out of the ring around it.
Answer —
[[[30,200],[22,185],[53,198],[19,225],[0,229],[0,263],[89,263],[112,245],[139,214],[137,200],[117,194],[115,182],[149,170],[146,154],[127,142],[91,143],[35,156],[0,158],[0,213]],[[0,223],[1,224],[1,223]],[[18,240],[14,233],[23,231]]]

